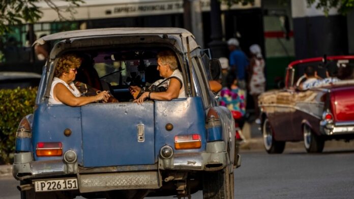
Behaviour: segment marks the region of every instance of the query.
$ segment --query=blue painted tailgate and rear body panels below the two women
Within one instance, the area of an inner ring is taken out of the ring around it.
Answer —
[[[173,125],[171,131],[166,130],[167,123]],[[138,142],[138,124],[144,124],[144,142]],[[69,137],[64,135],[66,128],[72,130]],[[209,140],[220,139],[217,129],[211,132]],[[192,134],[201,136],[201,148],[175,153],[205,150],[205,111],[200,97],[82,107],[49,106],[43,102],[34,114],[32,145],[35,160],[62,159],[35,154],[38,142],[62,142],[63,153],[74,150],[83,167],[142,165],[156,163],[161,147],[174,148],[174,136]]]

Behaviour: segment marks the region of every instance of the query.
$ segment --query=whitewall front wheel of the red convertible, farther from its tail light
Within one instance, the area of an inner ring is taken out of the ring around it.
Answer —
[[[273,138],[274,132],[269,123],[268,118],[265,118],[262,125],[262,134],[263,134],[263,144],[265,151],[270,154],[273,153],[282,153],[285,149],[285,142],[275,141]]]

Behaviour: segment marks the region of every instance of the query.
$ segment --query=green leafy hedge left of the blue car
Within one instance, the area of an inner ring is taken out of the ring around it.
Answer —
[[[21,119],[33,113],[37,88],[0,89],[0,158],[11,163],[16,130]]]

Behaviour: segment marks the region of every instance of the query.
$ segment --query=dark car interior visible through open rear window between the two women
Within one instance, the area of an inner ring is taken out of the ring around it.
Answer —
[[[119,102],[131,102],[133,96],[129,90],[130,86],[149,87],[163,79],[157,71],[157,54],[163,50],[167,48],[81,51],[79,56],[82,58],[82,63],[77,70],[75,81],[81,93],[87,93],[87,96],[96,93],[90,88],[92,87],[109,91]],[[179,63],[181,59],[177,60],[179,69],[183,72]],[[80,86],[81,83],[88,85],[88,89],[86,86]]]

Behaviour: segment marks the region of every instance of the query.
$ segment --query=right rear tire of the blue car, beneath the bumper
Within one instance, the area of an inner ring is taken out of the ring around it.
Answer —
[[[228,166],[217,172],[205,172],[203,176],[203,199],[233,199],[233,172]]]

